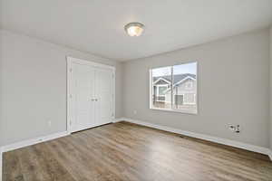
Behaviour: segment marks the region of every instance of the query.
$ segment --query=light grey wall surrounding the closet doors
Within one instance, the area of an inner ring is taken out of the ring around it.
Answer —
[[[0,146],[66,129],[66,55],[116,67],[121,117],[121,63],[5,30],[0,51]]]

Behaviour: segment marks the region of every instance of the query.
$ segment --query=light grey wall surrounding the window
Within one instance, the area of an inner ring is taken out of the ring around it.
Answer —
[[[268,47],[265,29],[124,62],[124,116],[268,147]],[[188,61],[199,62],[199,114],[150,110],[149,69]],[[229,124],[239,124],[241,133]]]

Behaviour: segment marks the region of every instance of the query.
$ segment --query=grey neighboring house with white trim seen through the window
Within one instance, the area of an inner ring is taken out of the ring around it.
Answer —
[[[170,103],[171,81],[169,76],[153,77],[154,103]],[[195,105],[197,81],[195,74],[173,75],[173,104]]]

